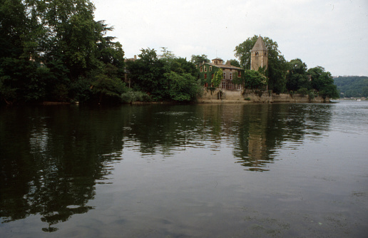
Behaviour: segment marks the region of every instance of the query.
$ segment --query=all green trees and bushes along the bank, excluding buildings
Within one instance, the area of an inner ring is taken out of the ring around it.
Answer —
[[[1,103],[195,101],[203,90],[195,65],[207,56],[188,61],[166,48],[160,55],[146,48],[138,60],[124,62],[123,46],[107,34],[113,28],[95,21],[94,10],[88,0],[1,1]],[[250,89],[267,83],[275,93],[339,96],[331,73],[320,66],[307,70],[299,58],[285,61],[277,42],[267,37],[269,66],[250,71],[256,40],[250,37],[235,48],[240,61],[230,62],[245,69],[235,83]]]

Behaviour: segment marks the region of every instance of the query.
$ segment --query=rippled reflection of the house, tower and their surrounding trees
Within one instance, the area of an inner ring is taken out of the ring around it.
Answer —
[[[185,147],[233,148],[245,170],[265,171],[277,148],[329,128],[333,105],[175,105],[141,107],[125,128],[124,145],[142,155],[170,155]]]

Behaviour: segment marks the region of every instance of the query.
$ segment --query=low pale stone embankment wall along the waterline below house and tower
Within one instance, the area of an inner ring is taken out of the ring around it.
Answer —
[[[270,93],[267,90],[223,90],[206,88],[198,103],[328,103],[321,96],[310,99],[308,95]]]

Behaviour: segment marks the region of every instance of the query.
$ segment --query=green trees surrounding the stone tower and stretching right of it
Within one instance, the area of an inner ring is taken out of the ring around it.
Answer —
[[[245,69],[242,83],[248,88],[260,88],[267,77],[268,88],[275,93],[302,93],[322,95],[322,97],[338,98],[338,90],[334,85],[331,73],[317,66],[307,69],[307,65],[299,58],[287,62],[282,56],[276,41],[263,37],[268,49],[268,68],[260,68],[259,73],[250,70],[250,50],[255,45],[258,36],[247,38],[235,47],[235,56],[240,60],[240,66]]]

